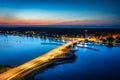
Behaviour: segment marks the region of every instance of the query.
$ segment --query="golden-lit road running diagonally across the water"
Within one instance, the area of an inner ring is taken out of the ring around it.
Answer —
[[[26,62],[18,67],[15,67],[0,74],[0,80],[21,80],[22,78],[33,72],[36,67],[43,67],[45,63],[49,63],[57,56],[61,56],[69,52],[70,49],[67,49],[66,46],[72,45],[73,43],[74,42],[67,42],[66,44],[63,44],[42,56],[39,56],[29,62]]]

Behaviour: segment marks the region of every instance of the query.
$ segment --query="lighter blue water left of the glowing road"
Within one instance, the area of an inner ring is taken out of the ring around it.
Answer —
[[[51,42],[55,41],[33,37],[0,35],[0,64],[12,66],[23,64],[59,46],[41,44]]]

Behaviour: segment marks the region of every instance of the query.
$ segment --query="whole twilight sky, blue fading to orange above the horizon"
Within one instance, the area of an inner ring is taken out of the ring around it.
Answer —
[[[120,0],[0,0],[0,25],[120,25]]]

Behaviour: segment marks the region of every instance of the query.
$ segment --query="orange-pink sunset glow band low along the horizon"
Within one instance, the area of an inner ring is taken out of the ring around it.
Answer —
[[[120,21],[116,21],[118,23]],[[0,19],[0,25],[101,25],[114,23],[106,20],[73,20],[73,21],[62,21],[62,20],[20,20],[20,19]]]

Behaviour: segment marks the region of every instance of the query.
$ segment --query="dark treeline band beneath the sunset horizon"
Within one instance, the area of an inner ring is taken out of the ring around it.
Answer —
[[[103,34],[103,33],[120,33],[120,28],[49,28],[49,27],[0,27],[0,31],[39,31],[47,33],[57,34]]]

